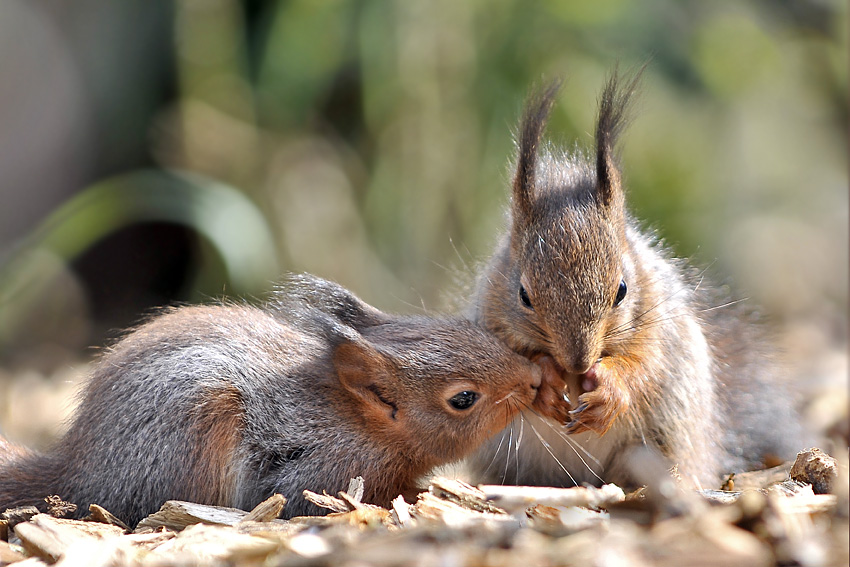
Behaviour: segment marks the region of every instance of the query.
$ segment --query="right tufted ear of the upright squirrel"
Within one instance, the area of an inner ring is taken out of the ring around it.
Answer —
[[[596,122],[596,197],[604,207],[622,206],[624,200],[614,148],[628,121],[632,97],[638,89],[645,68],[646,65],[638,69],[631,80],[621,86],[615,67],[602,90],[599,118]]]

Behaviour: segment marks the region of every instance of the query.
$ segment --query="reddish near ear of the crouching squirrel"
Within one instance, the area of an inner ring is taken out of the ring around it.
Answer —
[[[392,376],[390,362],[365,340],[338,344],[333,364],[339,383],[363,403],[363,414],[379,421],[395,421],[398,406],[382,385]]]

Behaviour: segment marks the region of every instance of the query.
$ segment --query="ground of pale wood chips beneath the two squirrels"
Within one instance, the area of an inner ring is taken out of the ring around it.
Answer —
[[[602,488],[472,487],[431,480],[413,504],[309,493],[326,516],[277,519],[275,495],[250,512],[171,501],[129,529],[98,506],[70,520],[7,510],[0,565],[59,566],[844,566],[846,462],[814,450],[722,491],[687,491],[674,476],[631,494]]]

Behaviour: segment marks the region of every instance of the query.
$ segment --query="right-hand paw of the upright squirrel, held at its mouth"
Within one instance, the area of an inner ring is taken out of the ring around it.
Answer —
[[[595,431],[604,435],[629,406],[628,392],[620,387],[616,376],[599,364],[579,376],[579,380],[584,393],[578,397],[578,406],[569,412],[567,433]]]

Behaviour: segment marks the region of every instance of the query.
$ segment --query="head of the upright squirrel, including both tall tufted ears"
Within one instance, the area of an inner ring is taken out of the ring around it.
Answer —
[[[507,322],[499,334],[524,354],[551,354],[574,374],[613,354],[616,344],[606,336],[634,309],[614,149],[638,79],[621,88],[614,75],[605,86],[595,159],[539,147],[559,83],[530,98],[520,124],[507,289],[498,290],[499,316]]]

